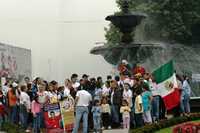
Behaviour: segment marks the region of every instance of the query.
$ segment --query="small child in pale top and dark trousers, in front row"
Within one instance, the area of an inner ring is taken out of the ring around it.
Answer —
[[[110,126],[110,105],[108,104],[107,97],[102,98],[102,104],[101,104],[101,110],[102,110],[102,122],[103,122],[103,127],[111,129]]]

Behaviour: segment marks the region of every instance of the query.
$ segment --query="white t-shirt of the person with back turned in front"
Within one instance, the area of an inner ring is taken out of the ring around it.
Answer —
[[[80,90],[76,93],[76,97],[78,97],[78,102],[76,106],[89,106],[89,102],[92,101],[92,96],[86,90]]]

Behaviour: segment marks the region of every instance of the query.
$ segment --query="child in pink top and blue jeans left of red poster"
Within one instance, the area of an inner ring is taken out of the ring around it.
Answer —
[[[33,132],[38,133],[40,132],[40,113],[41,113],[41,105],[38,102],[38,95],[35,96],[34,100],[32,101],[31,104],[31,112],[33,113]]]

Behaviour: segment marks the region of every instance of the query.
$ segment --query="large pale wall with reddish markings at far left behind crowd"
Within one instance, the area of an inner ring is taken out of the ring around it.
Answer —
[[[0,77],[31,78],[31,50],[0,43]]]

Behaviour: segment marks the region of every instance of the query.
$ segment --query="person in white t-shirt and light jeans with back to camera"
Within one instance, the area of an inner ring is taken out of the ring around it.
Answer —
[[[78,90],[75,98],[75,127],[73,133],[78,133],[81,118],[83,119],[83,133],[88,132],[89,103],[92,101],[91,94],[86,90]]]

